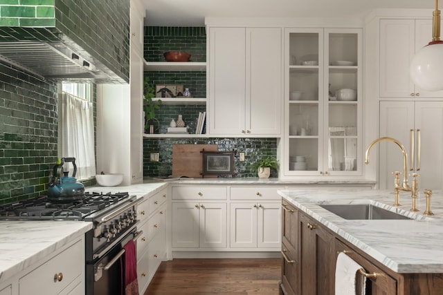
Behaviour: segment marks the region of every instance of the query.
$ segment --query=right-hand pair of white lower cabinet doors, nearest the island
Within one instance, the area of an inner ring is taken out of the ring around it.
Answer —
[[[281,247],[280,202],[230,204],[230,247]]]

